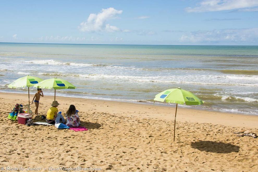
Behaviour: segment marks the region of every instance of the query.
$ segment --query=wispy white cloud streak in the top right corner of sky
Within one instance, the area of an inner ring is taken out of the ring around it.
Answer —
[[[191,12],[224,11],[242,8],[257,7],[257,0],[203,0],[198,7],[188,7],[185,10]]]

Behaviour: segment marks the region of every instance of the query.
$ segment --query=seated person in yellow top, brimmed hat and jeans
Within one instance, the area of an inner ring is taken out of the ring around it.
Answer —
[[[58,109],[57,106],[60,105],[57,101],[53,101],[52,107],[48,109],[47,111],[47,118],[46,121],[48,124],[59,124],[60,119],[63,123],[65,123],[65,119],[62,116],[62,114],[57,114]]]

